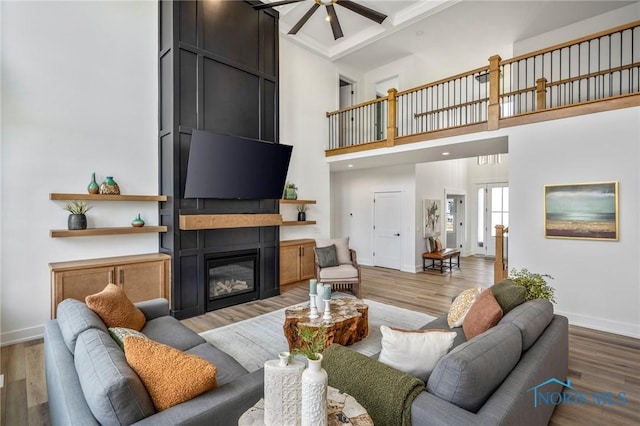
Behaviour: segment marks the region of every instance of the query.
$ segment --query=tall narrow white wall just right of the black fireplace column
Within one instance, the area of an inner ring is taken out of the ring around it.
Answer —
[[[334,65],[280,36],[280,142],[293,145],[287,180],[299,199],[314,199],[307,220],[316,225],[281,227],[280,239],[328,238],[331,199],[329,165],[324,161],[329,134],[327,111],[337,109],[338,72]],[[295,205],[283,204],[284,220],[296,220]]]

